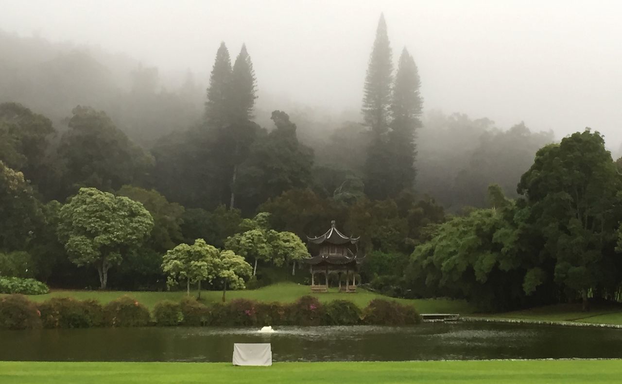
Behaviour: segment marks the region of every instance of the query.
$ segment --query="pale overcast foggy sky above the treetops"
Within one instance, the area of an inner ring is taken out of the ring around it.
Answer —
[[[406,46],[419,66],[425,109],[622,142],[622,1],[0,0],[0,29],[162,73],[208,73],[221,41],[233,57],[245,42],[261,91],[341,111],[360,108],[381,12],[396,59]]]

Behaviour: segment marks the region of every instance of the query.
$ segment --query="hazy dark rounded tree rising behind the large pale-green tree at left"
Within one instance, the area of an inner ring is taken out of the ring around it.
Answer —
[[[86,186],[115,191],[144,178],[152,158],[132,143],[103,111],[77,106],[63,134],[58,155],[65,163],[70,194]]]

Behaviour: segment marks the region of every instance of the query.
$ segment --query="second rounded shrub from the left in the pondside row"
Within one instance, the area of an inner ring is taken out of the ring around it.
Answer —
[[[38,307],[45,328],[99,327],[104,322],[104,310],[95,300],[52,298]]]

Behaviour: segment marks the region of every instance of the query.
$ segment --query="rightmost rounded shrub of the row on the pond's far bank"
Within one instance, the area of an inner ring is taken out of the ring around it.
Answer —
[[[407,326],[421,322],[414,307],[392,300],[373,299],[363,309],[363,322],[370,325]]]

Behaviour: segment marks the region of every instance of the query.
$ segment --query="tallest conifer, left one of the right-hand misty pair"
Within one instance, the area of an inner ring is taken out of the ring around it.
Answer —
[[[384,199],[391,186],[384,178],[391,167],[386,133],[389,129],[393,62],[384,15],[380,15],[376,40],[369,57],[363,96],[363,117],[371,129],[371,141],[364,164],[365,192],[374,199]]]

